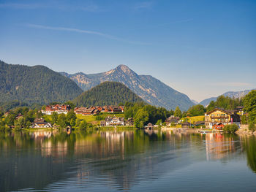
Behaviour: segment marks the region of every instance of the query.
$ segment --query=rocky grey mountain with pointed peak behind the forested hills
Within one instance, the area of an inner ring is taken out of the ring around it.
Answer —
[[[185,94],[170,88],[151,75],[138,75],[125,65],[119,65],[116,69],[99,74],[81,72],[76,74],[62,72],[61,74],[75,81],[85,91],[105,81],[122,82],[144,101],[155,106],[165,107],[167,110],[175,110],[177,106],[181,110],[187,110],[194,105]]]

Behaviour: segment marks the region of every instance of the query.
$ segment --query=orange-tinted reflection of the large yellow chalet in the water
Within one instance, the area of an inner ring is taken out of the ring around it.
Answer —
[[[206,159],[218,160],[234,153],[236,147],[233,137],[225,137],[223,134],[206,134]]]

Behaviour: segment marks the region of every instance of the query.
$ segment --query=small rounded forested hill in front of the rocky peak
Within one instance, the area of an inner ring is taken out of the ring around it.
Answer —
[[[121,82],[102,82],[73,100],[77,106],[118,105],[125,102],[143,102]]]

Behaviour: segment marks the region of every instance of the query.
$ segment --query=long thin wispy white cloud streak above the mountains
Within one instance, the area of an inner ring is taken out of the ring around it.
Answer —
[[[78,28],[66,28],[66,27],[53,27],[53,26],[41,26],[41,25],[34,25],[34,24],[26,24],[25,26],[30,27],[30,28],[41,28],[41,29],[47,29],[47,30],[55,30],[55,31],[71,31],[75,33],[82,33],[82,34],[93,34],[101,37],[105,37],[108,39],[114,39],[120,42],[127,42],[130,44],[137,44],[137,45],[151,45],[149,43],[144,43],[144,42],[135,42],[135,41],[130,41],[127,39],[122,39],[119,37],[115,37],[109,34],[104,34],[102,32],[98,31],[89,31],[89,30],[83,30],[83,29],[78,29]]]

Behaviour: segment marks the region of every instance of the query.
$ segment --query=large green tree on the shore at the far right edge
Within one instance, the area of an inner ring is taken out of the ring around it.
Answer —
[[[249,122],[256,123],[256,90],[244,96],[243,104],[244,110],[249,114]]]

